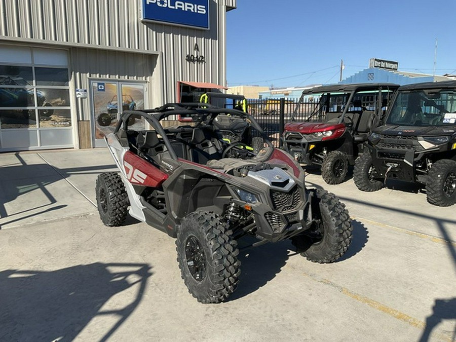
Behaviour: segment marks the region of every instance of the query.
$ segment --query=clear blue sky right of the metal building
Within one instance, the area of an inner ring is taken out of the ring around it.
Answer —
[[[369,66],[456,73],[456,0],[238,0],[227,13],[228,86],[337,83]]]

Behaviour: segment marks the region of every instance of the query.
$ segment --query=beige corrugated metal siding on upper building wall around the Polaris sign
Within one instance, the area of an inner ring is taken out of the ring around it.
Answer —
[[[175,100],[179,80],[226,85],[226,7],[235,8],[236,0],[209,2],[210,30],[141,22],[141,4],[140,0],[0,0],[0,35],[19,41],[62,43],[66,47],[74,44],[155,52],[163,76],[161,98],[165,101]],[[185,61],[187,54],[194,53],[195,44],[205,63]],[[77,59],[75,63],[81,65]],[[121,68],[116,61],[110,63],[112,70]],[[98,62],[95,66],[102,67]],[[125,76],[120,70],[117,75],[112,70],[110,77]]]

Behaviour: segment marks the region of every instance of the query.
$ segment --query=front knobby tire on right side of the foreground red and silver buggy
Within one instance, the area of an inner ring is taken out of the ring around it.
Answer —
[[[310,261],[334,262],[347,252],[352,241],[350,215],[343,203],[324,190],[317,189],[312,201],[312,214],[320,221],[291,242]]]

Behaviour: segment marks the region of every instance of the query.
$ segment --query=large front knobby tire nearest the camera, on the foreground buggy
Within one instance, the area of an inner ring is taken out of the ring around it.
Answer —
[[[213,212],[185,216],[177,232],[176,250],[185,285],[199,302],[219,303],[239,283],[237,242],[227,223]]]

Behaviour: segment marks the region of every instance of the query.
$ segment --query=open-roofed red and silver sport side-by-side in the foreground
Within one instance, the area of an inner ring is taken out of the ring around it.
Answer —
[[[150,129],[132,130],[133,115]],[[193,124],[164,127],[178,115]],[[247,148],[252,127],[263,138],[259,150]],[[97,179],[101,220],[121,225],[129,212],[177,238],[182,278],[201,302],[220,302],[236,289],[244,236],[257,239],[252,246],[291,239],[315,262],[335,261],[348,249],[345,206],[306,188],[299,165],[243,111],[203,103],[127,110],[105,139],[119,173]]]

